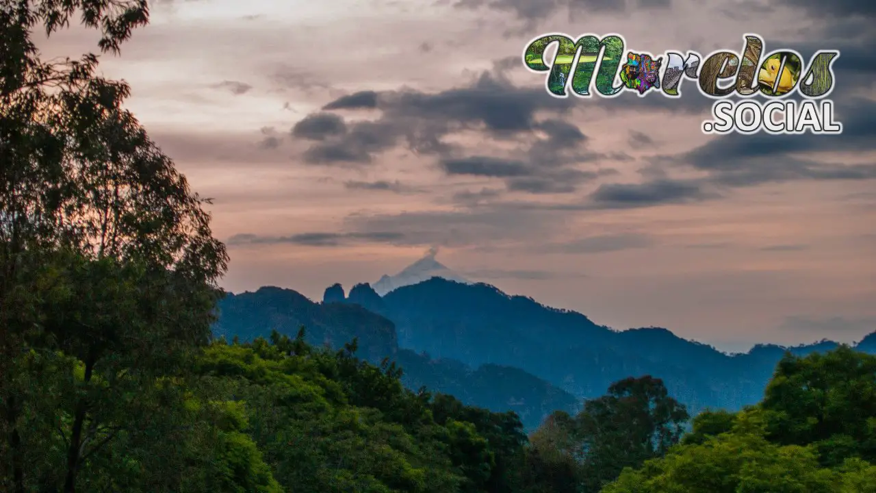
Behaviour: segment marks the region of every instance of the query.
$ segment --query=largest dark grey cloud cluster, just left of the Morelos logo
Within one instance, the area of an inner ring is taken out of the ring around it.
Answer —
[[[570,111],[568,102],[551,97],[539,89],[516,87],[488,73],[470,85],[437,93],[414,90],[359,92],[338,98],[324,109],[362,107],[375,107],[381,115],[374,121],[346,125],[348,132],[336,132],[337,138],[314,144],[305,153],[305,159],[310,162],[370,162],[373,154],[385,151],[403,139],[406,147],[416,154],[439,156],[440,166],[449,174],[498,177],[526,175],[547,180],[550,177],[542,175],[539,171],[541,168],[562,168],[569,163],[598,158],[594,154],[571,153],[577,146],[583,145],[586,137],[575,125],[556,118]],[[553,112],[554,115],[537,120],[536,113],[542,111]],[[316,120],[315,116],[308,118],[314,119],[304,129],[308,132],[299,132],[300,137],[308,139],[321,138],[324,126],[331,123],[331,128],[336,129],[340,126],[338,122],[343,121],[339,116],[330,120],[324,117]],[[305,121],[299,125],[305,126]],[[459,145],[443,140],[449,133],[463,130],[486,132],[496,139],[528,137],[535,144],[530,148],[526,160],[519,162],[466,156]],[[547,138],[536,138],[536,132],[541,132]],[[532,188],[518,186],[518,189]]]

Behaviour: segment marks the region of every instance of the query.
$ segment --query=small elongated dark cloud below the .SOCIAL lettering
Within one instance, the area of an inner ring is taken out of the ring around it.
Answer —
[[[713,195],[695,180],[654,180],[644,183],[606,183],[590,194],[590,204],[601,209],[626,209],[702,201]]]

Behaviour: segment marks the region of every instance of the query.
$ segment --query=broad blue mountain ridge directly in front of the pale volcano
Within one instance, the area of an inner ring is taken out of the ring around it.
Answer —
[[[758,402],[786,349],[808,354],[837,347],[822,341],[724,354],[667,329],[618,332],[487,284],[438,277],[395,289],[382,302],[379,310],[395,323],[402,348],[471,367],[521,368],[582,398],[602,395],[626,376],[653,375],[693,411]]]

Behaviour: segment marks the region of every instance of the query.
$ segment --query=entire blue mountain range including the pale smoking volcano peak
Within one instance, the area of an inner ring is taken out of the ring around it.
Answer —
[[[314,344],[341,347],[356,338],[362,357],[397,361],[409,388],[517,411],[530,429],[549,412],[573,411],[581,399],[601,396],[627,376],[661,378],[692,413],[738,410],[763,397],[786,350],[809,354],[838,346],[823,340],[726,354],[664,328],[616,331],[576,311],[467,282],[436,261],[434,251],[375,285],[380,290],[361,283],[349,293],[333,285],[322,303],[273,287],[230,294],[219,305],[215,333],[250,340],[272,329],[294,336],[304,325]],[[856,347],[876,353],[876,332]]]

